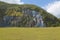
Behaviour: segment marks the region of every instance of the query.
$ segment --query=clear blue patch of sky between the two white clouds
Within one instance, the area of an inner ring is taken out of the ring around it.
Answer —
[[[52,3],[55,0],[22,0],[25,4],[35,4],[37,6],[43,7],[48,5],[48,3]]]

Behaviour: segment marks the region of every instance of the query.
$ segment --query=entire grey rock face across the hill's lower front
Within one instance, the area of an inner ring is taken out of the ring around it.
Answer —
[[[39,12],[22,8],[23,16],[4,16],[0,26],[43,27],[43,18]]]

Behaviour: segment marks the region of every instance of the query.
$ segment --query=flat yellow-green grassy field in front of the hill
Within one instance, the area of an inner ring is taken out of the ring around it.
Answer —
[[[60,28],[0,28],[0,40],[60,40]]]

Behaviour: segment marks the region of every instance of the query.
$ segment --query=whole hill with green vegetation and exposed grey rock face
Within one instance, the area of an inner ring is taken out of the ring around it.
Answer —
[[[16,5],[0,2],[0,26],[58,27],[60,20],[33,4]]]

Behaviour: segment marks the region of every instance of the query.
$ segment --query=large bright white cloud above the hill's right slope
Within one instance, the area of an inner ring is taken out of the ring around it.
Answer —
[[[60,1],[49,3],[47,6],[45,6],[45,9],[47,10],[47,12],[60,18]]]

